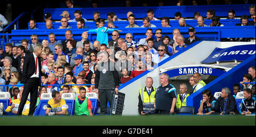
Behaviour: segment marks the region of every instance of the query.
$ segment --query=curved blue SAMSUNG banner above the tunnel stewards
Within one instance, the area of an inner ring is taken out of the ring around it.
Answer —
[[[220,70],[217,68],[210,68],[210,67],[182,67],[182,68],[169,70],[164,73],[167,73],[171,78],[179,75],[195,74],[196,72],[199,72],[200,74],[203,74],[203,75],[220,76],[224,74],[226,71]]]

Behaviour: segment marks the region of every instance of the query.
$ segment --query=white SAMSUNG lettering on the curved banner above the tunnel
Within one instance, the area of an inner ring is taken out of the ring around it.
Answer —
[[[179,74],[212,74],[212,68],[179,68]]]

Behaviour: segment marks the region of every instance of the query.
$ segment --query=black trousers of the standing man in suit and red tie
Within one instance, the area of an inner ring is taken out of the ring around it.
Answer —
[[[18,115],[22,115],[24,105],[26,104],[28,94],[30,93],[30,112],[28,115],[33,115],[35,112],[35,105],[38,99],[38,86],[39,78],[29,78],[24,84],[22,98],[20,99],[20,104],[18,108]]]

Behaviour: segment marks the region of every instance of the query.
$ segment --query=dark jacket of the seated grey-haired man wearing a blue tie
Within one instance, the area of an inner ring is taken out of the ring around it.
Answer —
[[[222,98],[220,96],[220,97],[218,97],[216,106],[214,106],[213,110],[214,110],[214,112],[221,113],[221,110],[223,110],[223,109],[224,109],[224,98]],[[228,100],[226,102],[226,111],[224,114],[229,114],[230,112],[238,113],[236,99],[232,95],[228,96]]]

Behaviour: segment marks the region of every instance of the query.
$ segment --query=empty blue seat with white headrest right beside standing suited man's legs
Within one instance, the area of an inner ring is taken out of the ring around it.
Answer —
[[[48,101],[52,99],[51,93],[42,93],[40,97],[40,101],[38,104],[38,107],[35,109],[34,116],[36,115],[46,115],[46,106],[48,104]]]

